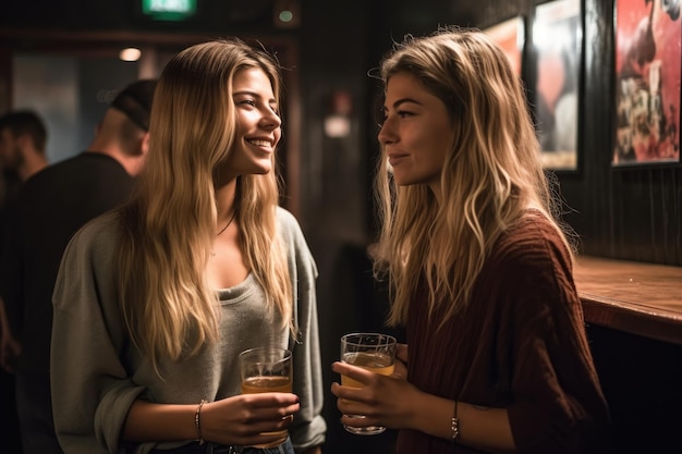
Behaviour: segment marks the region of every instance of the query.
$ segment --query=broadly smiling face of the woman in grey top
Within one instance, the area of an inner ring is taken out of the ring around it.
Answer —
[[[224,167],[234,176],[268,173],[282,124],[272,84],[259,68],[240,70],[232,82],[232,98],[235,137]]]

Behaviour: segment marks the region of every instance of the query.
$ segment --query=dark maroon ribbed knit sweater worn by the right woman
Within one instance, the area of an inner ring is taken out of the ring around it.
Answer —
[[[425,295],[410,308],[409,380],[461,402],[507,407],[520,453],[604,452],[609,415],[585,336],[570,258],[536,211],[507,232],[472,300],[437,331]],[[466,420],[461,420],[466,438]],[[399,433],[399,454],[476,453],[422,432]]]

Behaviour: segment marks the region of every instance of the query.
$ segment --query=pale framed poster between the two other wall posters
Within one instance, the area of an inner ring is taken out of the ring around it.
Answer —
[[[535,7],[535,115],[543,164],[577,169],[579,96],[582,51],[581,0]]]

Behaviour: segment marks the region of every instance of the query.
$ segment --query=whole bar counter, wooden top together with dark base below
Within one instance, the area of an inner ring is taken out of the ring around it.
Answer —
[[[605,454],[682,453],[682,267],[579,257],[573,277],[611,412]]]

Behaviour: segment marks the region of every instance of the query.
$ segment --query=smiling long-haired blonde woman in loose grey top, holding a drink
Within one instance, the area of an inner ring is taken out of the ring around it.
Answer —
[[[59,270],[65,453],[321,452],[317,268],[279,206],[280,78],[238,38],[163,69],[133,197],[80,230]],[[238,356],[260,346],[292,351],[293,393],[240,394]],[[285,428],[285,442],[248,447]]]

